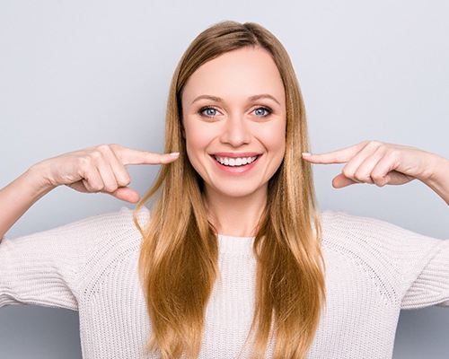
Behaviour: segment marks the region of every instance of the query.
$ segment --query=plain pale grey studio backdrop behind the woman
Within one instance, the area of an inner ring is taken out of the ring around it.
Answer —
[[[0,3],[0,186],[32,163],[118,143],[163,150],[172,72],[189,42],[222,20],[259,22],[284,43],[302,86],[314,152],[365,139],[449,157],[449,3],[425,1],[7,1]],[[449,237],[448,206],[418,182],[334,189],[315,167],[321,209]],[[157,166],[130,168],[145,193]],[[125,203],[57,188],[9,237]],[[0,219],[1,220],[1,219]],[[449,353],[449,310],[403,311],[393,357]],[[0,311],[1,358],[81,358],[74,311]]]

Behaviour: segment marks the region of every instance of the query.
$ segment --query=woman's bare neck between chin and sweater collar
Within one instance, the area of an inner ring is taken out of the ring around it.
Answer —
[[[208,220],[217,234],[252,237],[256,235],[260,215],[267,203],[267,190],[246,197],[220,196],[206,191],[204,200]]]

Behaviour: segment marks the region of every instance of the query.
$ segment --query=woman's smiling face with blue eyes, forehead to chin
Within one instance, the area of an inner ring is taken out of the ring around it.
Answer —
[[[207,197],[266,196],[286,150],[286,92],[269,53],[242,48],[208,61],[181,101],[189,161]]]

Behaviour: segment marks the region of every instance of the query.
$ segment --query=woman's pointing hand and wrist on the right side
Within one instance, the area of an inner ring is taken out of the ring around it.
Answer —
[[[436,153],[399,144],[365,141],[330,153],[303,153],[312,163],[346,163],[332,180],[335,188],[355,183],[379,187],[420,180],[449,204],[449,160]]]

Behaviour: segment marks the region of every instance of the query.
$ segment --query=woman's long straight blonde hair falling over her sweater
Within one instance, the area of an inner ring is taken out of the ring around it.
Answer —
[[[180,160],[163,166],[137,206],[159,194],[142,231],[139,272],[152,322],[149,347],[163,358],[198,356],[206,306],[218,274],[216,232],[207,221],[202,180],[189,162],[182,136],[182,90],[199,66],[245,47],[269,52],[286,89],[286,153],[269,180],[253,248],[257,258],[253,356],[262,357],[273,338],[275,358],[303,358],[320,320],[325,295],[321,230],[311,168],[301,157],[309,144],[295,71],[286,49],[260,25],[220,22],[194,39],[175,70],[165,152],[180,152]]]

